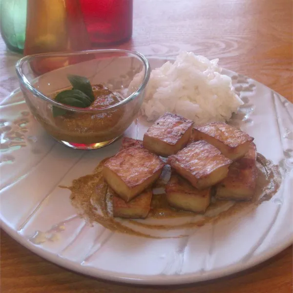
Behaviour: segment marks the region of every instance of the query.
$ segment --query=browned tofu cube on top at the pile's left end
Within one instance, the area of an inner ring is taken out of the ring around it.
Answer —
[[[103,175],[108,185],[129,202],[160,177],[164,165],[147,149],[128,147],[105,162]]]

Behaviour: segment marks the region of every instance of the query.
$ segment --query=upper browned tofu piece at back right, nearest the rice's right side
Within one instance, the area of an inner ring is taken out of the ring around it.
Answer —
[[[243,157],[253,141],[247,133],[224,122],[195,127],[194,134],[194,140],[205,140],[233,161]]]

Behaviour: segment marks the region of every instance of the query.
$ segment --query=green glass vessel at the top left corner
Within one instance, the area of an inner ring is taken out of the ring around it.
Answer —
[[[6,46],[23,52],[27,0],[0,0],[0,31]]]

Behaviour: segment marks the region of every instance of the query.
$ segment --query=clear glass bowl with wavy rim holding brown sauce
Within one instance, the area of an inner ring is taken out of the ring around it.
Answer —
[[[26,56],[16,70],[25,101],[37,121],[58,142],[79,149],[106,146],[123,134],[138,114],[150,74],[143,55],[116,49]],[[140,85],[128,89],[140,72]],[[118,92],[121,101],[98,109],[56,102],[50,98],[54,93],[71,88],[68,74],[85,76],[92,85],[104,84]],[[53,117],[53,107],[63,108],[66,114]]]

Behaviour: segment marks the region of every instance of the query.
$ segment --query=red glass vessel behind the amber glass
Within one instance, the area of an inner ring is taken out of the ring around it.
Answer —
[[[125,42],[132,36],[133,0],[80,0],[93,45]]]

